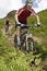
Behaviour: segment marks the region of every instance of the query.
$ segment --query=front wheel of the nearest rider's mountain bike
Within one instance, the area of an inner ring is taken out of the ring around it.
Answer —
[[[26,42],[26,50],[34,51],[35,43],[34,39],[28,37]]]

